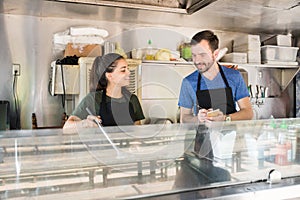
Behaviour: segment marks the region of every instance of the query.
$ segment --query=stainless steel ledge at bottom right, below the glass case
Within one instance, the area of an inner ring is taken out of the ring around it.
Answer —
[[[133,198],[160,199],[185,199],[181,195],[186,194],[186,199],[206,199],[206,200],[248,200],[248,199],[276,199],[276,200],[297,200],[299,199],[300,179],[298,177],[286,178],[280,184],[266,184],[265,181],[253,182],[250,184],[233,184],[223,186],[200,187],[194,191],[174,192],[165,195],[138,195]],[[202,195],[201,195],[202,194]],[[195,197],[195,198],[193,198]]]

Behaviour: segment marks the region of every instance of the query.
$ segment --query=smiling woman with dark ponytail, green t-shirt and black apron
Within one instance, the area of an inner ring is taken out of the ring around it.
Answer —
[[[130,71],[126,60],[119,54],[109,53],[96,57],[90,72],[90,93],[80,102],[65,123],[64,133],[77,127],[141,124],[144,114],[136,95],[131,94]]]

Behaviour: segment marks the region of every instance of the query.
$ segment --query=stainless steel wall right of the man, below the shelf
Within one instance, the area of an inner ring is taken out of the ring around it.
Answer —
[[[248,73],[248,86],[252,86],[254,119],[294,116],[295,91],[291,82],[299,72],[299,66],[239,64],[238,67]],[[262,97],[259,93],[256,97],[256,87],[268,88],[267,96]]]

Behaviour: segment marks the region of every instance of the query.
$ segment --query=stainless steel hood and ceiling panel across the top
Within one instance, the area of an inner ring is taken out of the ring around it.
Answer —
[[[193,3],[213,2],[192,15],[173,13],[171,11],[176,12],[182,9],[165,7],[161,3],[164,1],[149,1],[150,3],[156,2],[153,7],[159,8],[159,11],[147,9],[152,5],[147,5],[144,1],[141,5],[139,4],[141,0],[124,2],[91,0],[19,0],[16,2],[1,0],[1,2],[1,13],[40,17],[67,16],[74,19],[109,20],[135,24],[165,24],[267,34],[292,33],[293,35],[299,35],[300,27],[298,0],[279,2],[277,0],[180,1],[180,3],[187,5],[187,8],[194,5]],[[145,8],[145,10],[142,8]]]

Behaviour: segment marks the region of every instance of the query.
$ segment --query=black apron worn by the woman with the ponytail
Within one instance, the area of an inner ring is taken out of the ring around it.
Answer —
[[[133,105],[130,97],[125,102],[116,102],[111,99],[106,102],[106,91],[102,93],[99,115],[103,126],[133,125],[135,121]]]

